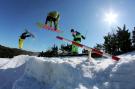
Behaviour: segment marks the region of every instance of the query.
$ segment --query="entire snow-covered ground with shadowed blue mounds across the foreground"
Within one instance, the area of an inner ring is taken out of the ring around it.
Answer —
[[[0,89],[135,89],[135,51],[119,57],[0,58]]]

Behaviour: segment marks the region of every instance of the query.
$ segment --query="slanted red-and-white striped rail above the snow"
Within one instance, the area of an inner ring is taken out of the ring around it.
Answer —
[[[97,49],[95,49],[95,48],[91,48],[91,47],[88,47],[88,46],[86,46],[86,45],[76,43],[75,41],[68,40],[68,39],[63,38],[63,37],[61,37],[61,36],[56,36],[56,38],[59,39],[59,40],[63,40],[63,41],[66,41],[66,42],[70,42],[71,44],[74,44],[74,45],[76,45],[76,46],[78,46],[78,47],[84,48],[84,49],[86,49],[86,50],[88,50],[88,51],[95,52],[96,54],[99,54],[99,55],[101,55],[101,56],[111,57],[111,58],[112,58],[113,60],[115,60],[115,61],[119,61],[119,60],[120,60],[120,58],[117,57],[117,56],[110,55],[110,54],[108,54],[108,53],[104,53],[104,52],[102,52],[102,51],[100,51],[100,50],[97,50]]]

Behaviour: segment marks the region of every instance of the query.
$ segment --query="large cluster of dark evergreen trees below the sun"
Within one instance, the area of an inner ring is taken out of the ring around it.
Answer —
[[[114,31],[104,36],[104,43],[97,44],[95,48],[113,55],[135,50],[135,27],[132,32],[129,32],[124,24],[122,28],[118,26]]]

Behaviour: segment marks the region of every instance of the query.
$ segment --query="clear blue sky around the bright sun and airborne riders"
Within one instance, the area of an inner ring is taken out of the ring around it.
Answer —
[[[133,30],[134,8],[135,0],[0,0],[0,44],[17,48],[18,38],[27,28],[36,38],[26,39],[23,49],[42,51],[54,44],[66,44],[57,40],[57,35],[72,40],[70,29],[74,28],[86,35],[82,44],[93,47],[103,43],[103,36],[116,26],[126,24],[130,31]],[[36,26],[36,22],[44,23],[47,13],[54,10],[60,12],[62,34]],[[117,22],[112,25],[103,20],[109,10],[118,14]]]

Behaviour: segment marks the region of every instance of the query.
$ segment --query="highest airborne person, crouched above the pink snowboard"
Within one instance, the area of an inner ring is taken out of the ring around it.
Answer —
[[[48,25],[49,22],[50,27],[52,27],[52,22],[53,22],[55,30],[59,30],[58,27],[59,19],[60,19],[60,14],[57,11],[49,12],[45,21],[45,25]]]

